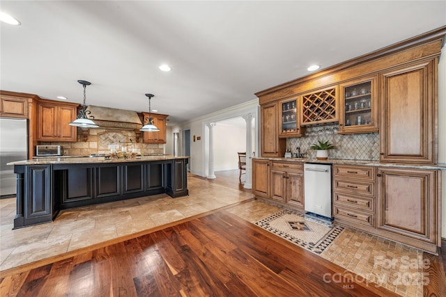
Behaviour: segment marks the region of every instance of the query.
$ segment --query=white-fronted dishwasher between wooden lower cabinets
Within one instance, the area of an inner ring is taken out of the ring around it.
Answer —
[[[305,211],[332,218],[332,166],[305,163]]]

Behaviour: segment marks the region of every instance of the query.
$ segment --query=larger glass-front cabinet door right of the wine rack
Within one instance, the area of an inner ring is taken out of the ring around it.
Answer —
[[[339,134],[378,131],[377,77],[341,84]]]

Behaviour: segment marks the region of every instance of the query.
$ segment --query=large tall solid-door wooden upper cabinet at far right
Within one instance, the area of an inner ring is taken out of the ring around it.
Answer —
[[[380,161],[436,163],[438,58],[380,74]]]

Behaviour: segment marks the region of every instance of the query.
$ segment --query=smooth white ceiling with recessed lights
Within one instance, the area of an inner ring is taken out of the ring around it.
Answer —
[[[0,1],[0,87],[184,122],[446,25],[446,1]],[[158,66],[167,63],[171,72]]]

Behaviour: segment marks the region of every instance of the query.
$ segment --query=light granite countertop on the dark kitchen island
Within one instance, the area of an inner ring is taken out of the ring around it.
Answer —
[[[174,159],[187,159],[189,156],[137,156],[132,159],[106,159],[105,156],[56,156],[36,158],[31,160],[14,161],[7,165],[43,165],[43,164],[86,164],[86,163],[127,163],[127,162],[144,162],[144,161],[162,161]]]

